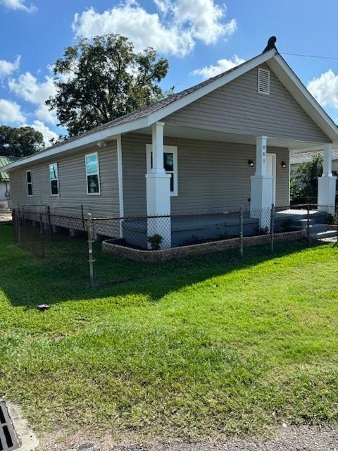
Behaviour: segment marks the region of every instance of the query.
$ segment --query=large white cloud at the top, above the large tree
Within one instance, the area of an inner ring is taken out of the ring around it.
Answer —
[[[127,36],[137,51],[154,47],[162,54],[185,56],[196,41],[215,44],[221,37],[232,35],[236,20],[225,23],[225,6],[213,0],[155,0],[159,13],[148,13],[130,0],[103,13],[89,8],[75,14],[73,31],[77,37],[93,37],[107,33]]]

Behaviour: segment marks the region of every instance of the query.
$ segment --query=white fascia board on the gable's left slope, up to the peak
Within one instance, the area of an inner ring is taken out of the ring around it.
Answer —
[[[182,97],[182,99],[173,101],[172,104],[164,106],[162,109],[158,111],[154,111],[154,113],[151,113],[148,116],[148,125],[152,125],[155,122],[161,121],[161,119],[165,118],[165,116],[169,116],[170,114],[175,113],[175,111],[191,104],[193,101],[200,99],[206,94],[209,94],[209,92],[212,92],[215,89],[218,89],[219,87],[222,87],[227,83],[231,82],[235,78],[244,75],[244,73],[249,72],[249,70],[273,58],[276,53],[277,52],[275,51],[275,49],[271,49],[265,52],[264,54],[258,55],[256,56],[256,58],[253,58],[251,61],[244,63],[239,68],[234,69],[232,70],[232,72],[223,75],[223,77],[220,77],[214,80],[213,82],[210,82],[207,85],[199,89],[196,89],[196,91],[192,92],[191,94],[187,94],[186,96]]]

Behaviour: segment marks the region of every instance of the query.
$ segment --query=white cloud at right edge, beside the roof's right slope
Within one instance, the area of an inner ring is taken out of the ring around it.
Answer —
[[[308,90],[321,106],[338,108],[338,75],[329,69],[308,83]]]

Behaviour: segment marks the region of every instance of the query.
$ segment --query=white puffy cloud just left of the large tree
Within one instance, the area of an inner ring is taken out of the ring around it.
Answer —
[[[38,105],[35,114],[40,121],[56,124],[56,114],[49,111],[45,104],[50,96],[56,94],[56,88],[51,77],[47,75],[44,82],[38,82],[34,75],[26,72],[16,79],[9,80],[8,86],[12,92],[15,92],[22,99]]]

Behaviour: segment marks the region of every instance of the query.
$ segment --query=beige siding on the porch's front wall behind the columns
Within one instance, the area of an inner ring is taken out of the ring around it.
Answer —
[[[151,136],[123,136],[123,194],[125,216],[146,214],[146,144]],[[224,211],[249,207],[250,168],[256,160],[251,144],[185,140],[165,137],[165,144],[177,146],[178,196],[171,197],[173,214]],[[289,203],[289,151],[268,147],[276,154],[276,204]],[[282,168],[285,161],[287,168]]]

